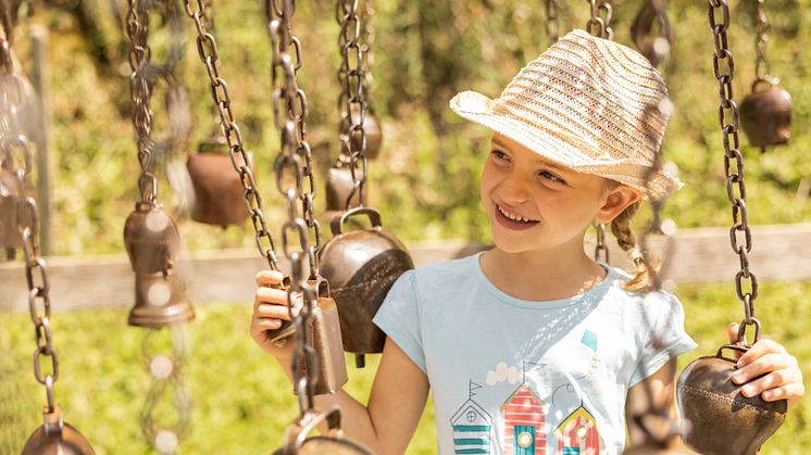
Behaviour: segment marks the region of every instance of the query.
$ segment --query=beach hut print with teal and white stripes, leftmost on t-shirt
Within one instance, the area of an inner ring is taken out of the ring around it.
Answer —
[[[489,454],[492,417],[476,402],[473,393],[482,386],[470,381],[467,401],[450,418],[457,454]]]

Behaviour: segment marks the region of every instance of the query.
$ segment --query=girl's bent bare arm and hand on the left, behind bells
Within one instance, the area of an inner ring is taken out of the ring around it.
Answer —
[[[254,294],[251,337],[263,350],[276,357],[292,381],[295,341],[290,339],[284,347],[277,347],[264,334],[265,330],[277,328],[279,319],[289,319],[287,293],[270,288],[280,280],[282,274],[275,271],[260,271],[257,275],[259,288]],[[375,453],[402,454],[414,434],[427,397],[428,378],[397,343],[386,339],[367,405],[364,406],[344,390],[332,395],[316,396],[315,405],[319,409],[338,405],[344,433]]]

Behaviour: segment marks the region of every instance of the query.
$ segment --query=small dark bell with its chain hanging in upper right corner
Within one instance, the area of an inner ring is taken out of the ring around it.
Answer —
[[[760,147],[781,146],[791,137],[791,96],[772,77],[766,58],[769,22],[763,0],[757,0],[756,39],[757,60],[751,93],[740,103],[740,127],[749,143]]]

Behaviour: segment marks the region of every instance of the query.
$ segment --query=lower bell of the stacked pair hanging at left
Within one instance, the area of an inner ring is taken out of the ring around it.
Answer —
[[[162,273],[135,276],[135,306],[129,311],[130,326],[160,329],[195,318],[179,276]]]

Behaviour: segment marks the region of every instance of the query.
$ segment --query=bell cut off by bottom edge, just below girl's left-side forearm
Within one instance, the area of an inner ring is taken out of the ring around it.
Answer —
[[[308,438],[317,425],[326,421],[328,431],[324,435]],[[340,409],[333,407],[326,413],[308,410],[285,431],[282,448],[273,455],[372,455],[365,445],[344,435],[340,429]]]

